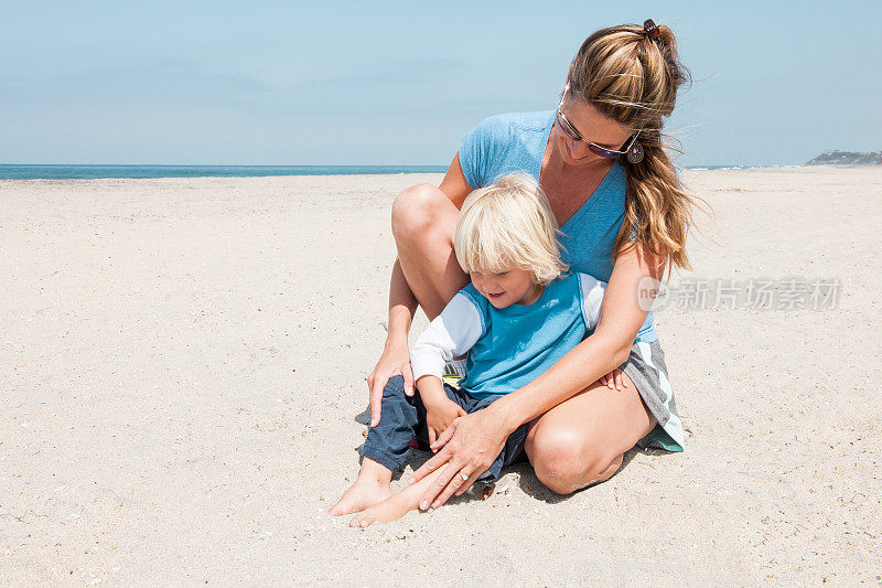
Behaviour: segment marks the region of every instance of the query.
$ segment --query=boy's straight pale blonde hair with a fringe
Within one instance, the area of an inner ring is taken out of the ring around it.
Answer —
[[[555,214],[539,183],[526,173],[475,190],[462,205],[453,250],[465,271],[524,269],[547,286],[569,269],[561,261]]]

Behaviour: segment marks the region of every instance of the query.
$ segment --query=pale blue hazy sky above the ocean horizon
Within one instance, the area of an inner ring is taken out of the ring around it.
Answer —
[[[594,30],[671,26],[681,165],[882,150],[882,2],[4,2],[0,163],[448,164]]]

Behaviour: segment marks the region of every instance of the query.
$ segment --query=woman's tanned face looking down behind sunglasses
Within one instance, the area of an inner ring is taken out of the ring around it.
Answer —
[[[621,150],[632,137],[633,131],[612,118],[601,114],[594,106],[574,98],[569,92],[563,93],[560,111],[567,121],[584,139],[607,149]],[[592,153],[585,141],[573,140],[555,124],[555,145],[561,160],[570,165],[596,165],[601,161],[610,161]]]

